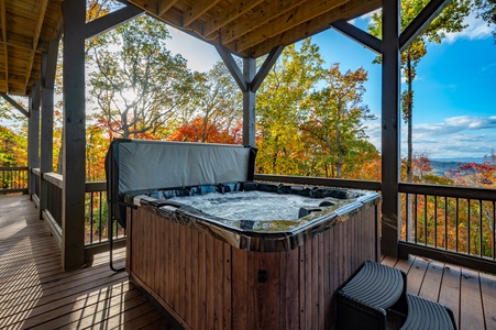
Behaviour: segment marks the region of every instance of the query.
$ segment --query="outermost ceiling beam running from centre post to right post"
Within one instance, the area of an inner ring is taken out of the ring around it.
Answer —
[[[344,6],[335,8],[323,15],[317,16],[306,24],[295,26],[274,37],[266,38],[263,42],[246,50],[244,53],[241,53],[241,55],[258,57],[268,53],[274,47],[274,45],[286,46],[293,44],[297,41],[304,40],[308,36],[329,29],[330,23],[332,22],[335,22],[338,20],[352,20],[378,8],[381,8],[381,3],[374,0],[351,0]],[[298,36],[298,38],[295,40],[295,36]]]

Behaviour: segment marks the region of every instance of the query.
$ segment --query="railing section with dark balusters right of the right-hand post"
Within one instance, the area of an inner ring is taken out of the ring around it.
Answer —
[[[417,254],[496,273],[496,191],[399,184],[399,254]]]

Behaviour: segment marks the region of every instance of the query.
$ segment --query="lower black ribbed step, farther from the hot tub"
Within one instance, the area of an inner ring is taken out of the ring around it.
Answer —
[[[453,312],[449,307],[407,294],[408,316],[401,330],[455,330]]]

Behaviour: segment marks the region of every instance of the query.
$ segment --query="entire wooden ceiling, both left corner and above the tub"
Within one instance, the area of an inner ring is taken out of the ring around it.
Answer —
[[[84,1],[84,0],[80,0]],[[125,2],[124,0],[119,0]],[[0,0],[0,92],[30,95],[42,52],[62,29],[64,0]],[[258,57],[381,7],[379,0],[129,0],[241,57]]]

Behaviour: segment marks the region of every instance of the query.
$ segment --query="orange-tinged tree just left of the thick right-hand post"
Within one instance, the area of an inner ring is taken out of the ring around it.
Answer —
[[[339,64],[333,64],[323,77],[327,85],[312,94],[312,110],[302,130],[323,151],[326,176],[340,178],[343,166],[352,163],[353,148],[367,138],[363,121],[373,120],[375,116],[362,103],[363,84],[367,80],[363,68],[342,74]]]

